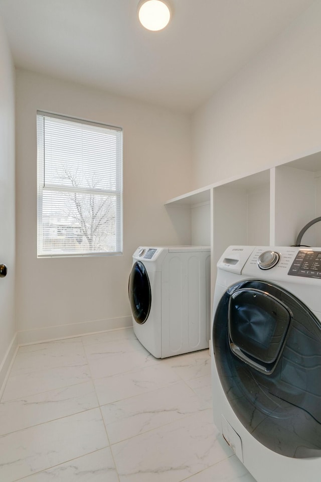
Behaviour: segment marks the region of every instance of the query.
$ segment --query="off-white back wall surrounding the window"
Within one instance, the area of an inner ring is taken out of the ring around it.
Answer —
[[[191,187],[190,118],[22,70],[16,93],[19,340],[130,324],[127,289],[135,249],[189,242],[163,203]],[[37,109],[123,128],[123,256],[37,259]]]

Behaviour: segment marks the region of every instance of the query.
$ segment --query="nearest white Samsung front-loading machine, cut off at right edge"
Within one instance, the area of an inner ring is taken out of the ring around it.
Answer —
[[[231,246],[217,266],[214,421],[258,482],[320,482],[321,248]]]

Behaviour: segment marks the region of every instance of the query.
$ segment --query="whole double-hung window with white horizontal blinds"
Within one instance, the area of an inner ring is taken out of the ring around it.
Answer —
[[[122,130],[37,112],[38,257],[121,254]]]

